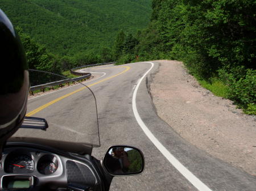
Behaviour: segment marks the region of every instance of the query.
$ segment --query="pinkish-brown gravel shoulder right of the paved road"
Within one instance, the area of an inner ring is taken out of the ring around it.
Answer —
[[[256,176],[255,116],[201,87],[182,62],[155,62],[150,90],[159,117],[196,147]]]

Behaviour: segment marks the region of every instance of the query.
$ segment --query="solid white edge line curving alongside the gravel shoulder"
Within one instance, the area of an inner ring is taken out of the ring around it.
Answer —
[[[166,147],[162,145],[158,141],[158,139],[154,136],[154,134],[151,133],[151,131],[147,128],[147,126],[144,124],[142,121],[141,117],[139,116],[137,106],[136,106],[136,96],[137,96],[137,91],[139,89],[139,85],[141,84],[143,78],[147,75],[147,73],[154,67],[153,62],[144,62],[144,63],[151,63],[150,69],[143,75],[143,77],[138,81],[138,84],[134,90],[133,93],[133,113],[134,116],[139,124],[141,126],[142,130],[144,133],[147,135],[147,137],[150,139],[152,143],[158,148],[160,152],[166,157],[166,159],[183,175],[193,186],[195,186],[198,190],[200,191],[212,191],[210,188],[208,188],[207,185],[205,185],[201,180],[199,180],[195,175],[193,175],[192,172],[190,172],[186,167],[184,167],[183,164],[177,160],[174,155],[172,155]]]

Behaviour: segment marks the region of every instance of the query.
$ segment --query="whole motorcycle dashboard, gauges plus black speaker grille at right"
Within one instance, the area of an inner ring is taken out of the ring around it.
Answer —
[[[2,152],[1,190],[94,188],[97,172],[90,163],[46,150],[9,147]]]

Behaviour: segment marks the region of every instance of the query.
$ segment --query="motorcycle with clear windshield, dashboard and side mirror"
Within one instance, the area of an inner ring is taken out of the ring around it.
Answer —
[[[1,190],[109,190],[114,176],[144,171],[133,146],[110,146],[102,160],[92,156],[101,146],[96,98],[76,79],[88,76],[30,70],[26,117],[2,152]]]

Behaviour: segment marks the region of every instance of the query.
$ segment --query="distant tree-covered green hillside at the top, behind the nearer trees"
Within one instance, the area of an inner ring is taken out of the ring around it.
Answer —
[[[50,52],[69,56],[112,46],[120,29],[145,28],[150,5],[151,0],[0,0],[15,26]]]

